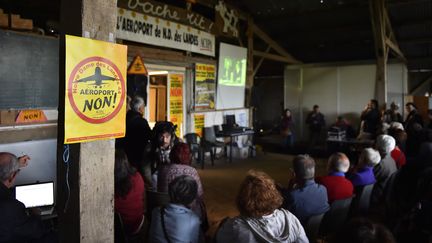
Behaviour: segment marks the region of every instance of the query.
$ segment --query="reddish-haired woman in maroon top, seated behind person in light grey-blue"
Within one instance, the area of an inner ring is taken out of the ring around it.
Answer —
[[[204,191],[198,172],[191,166],[192,155],[189,145],[186,143],[177,143],[174,145],[170,153],[170,161],[171,164],[161,166],[159,169],[158,192],[168,192],[169,183],[178,176],[188,175],[194,178],[198,185],[198,193],[196,199],[190,205],[190,208],[201,219],[203,230],[207,230],[208,225],[206,207],[204,204]]]

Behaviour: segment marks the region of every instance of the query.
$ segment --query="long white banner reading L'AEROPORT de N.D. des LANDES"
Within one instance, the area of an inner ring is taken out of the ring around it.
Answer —
[[[214,35],[170,20],[118,8],[119,39],[215,55]]]

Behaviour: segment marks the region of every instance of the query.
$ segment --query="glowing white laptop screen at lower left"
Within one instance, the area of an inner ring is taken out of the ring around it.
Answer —
[[[15,198],[26,208],[53,205],[54,182],[16,186]]]

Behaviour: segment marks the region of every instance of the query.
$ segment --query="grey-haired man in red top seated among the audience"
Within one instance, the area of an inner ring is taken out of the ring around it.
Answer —
[[[327,163],[328,175],[317,178],[317,182],[327,189],[329,203],[335,200],[352,197],[354,187],[351,181],[345,178],[350,162],[344,153],[334,153]]]

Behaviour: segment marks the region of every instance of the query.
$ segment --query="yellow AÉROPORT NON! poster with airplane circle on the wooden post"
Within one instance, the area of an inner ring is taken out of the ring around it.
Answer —
[[[127,46],[66,35],[64,143],[124,137]]]

